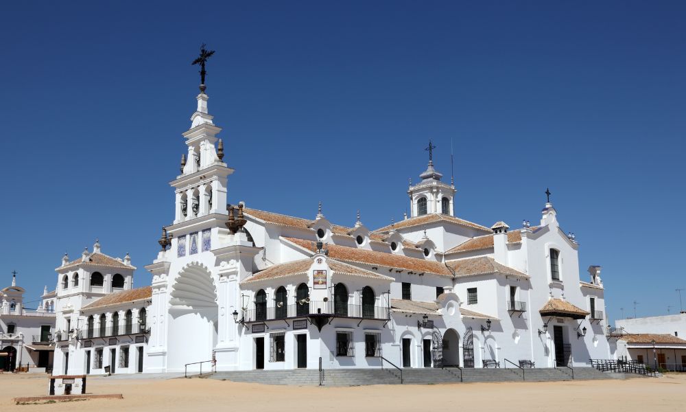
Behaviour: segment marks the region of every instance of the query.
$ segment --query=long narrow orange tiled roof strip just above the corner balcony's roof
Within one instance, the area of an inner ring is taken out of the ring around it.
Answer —
[[[288,242],[297,244],[299,247],[314,252],[314,242],[296,238],[284,238]],[[368,249],[357,249],[354,247],[345,247],[338,244],[327,244],[329,248],[329,256],[335,260],[342,260],[344,262],[370,264],[374,266],[385,266],[387,268],[399,268],[406,271],[413,271],[416,273],[434,273],[434,275],[451,276],[452,273],[442,263],[433,260],[423,260],[418,258],[410,258],[403,255],[394,255],[392,253],[384,253],[377,251],[370,251]]]

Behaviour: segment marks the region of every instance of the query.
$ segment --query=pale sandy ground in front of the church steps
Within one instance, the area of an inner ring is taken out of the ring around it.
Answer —
[[[211,379],[88,378],[89,393],[123,399],[16,405],[44,375],[0,374],[0,411],[686,411],[686,374],[627,380],[290,387]]]

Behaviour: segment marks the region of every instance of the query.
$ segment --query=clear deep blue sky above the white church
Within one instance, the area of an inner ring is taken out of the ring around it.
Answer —
[[[674,313],[685,20],[683,1],[5,1],[0,285],[16,270],[35,300],[95,238],[149,284],[204,42],[231,203],[381,227],[429,139],[449,179],[452,142],[458,216],[534,224],[550,187],[611,317]]]

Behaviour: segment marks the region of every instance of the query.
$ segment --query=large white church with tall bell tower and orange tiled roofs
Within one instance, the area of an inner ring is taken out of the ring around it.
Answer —
[[[549,201],[540,225],[477,225],[454,216],[456,189],[430,160],[407,190],[411,216],[376,230],[359,214],[336,225],[321,205],[313,218],[227,207],[233,169],[204,87],[197,101],[171,181],[174,222],[145,266],[151,286],[132,288],[128,256],[110,258],[99,244],[56,269],[60,373],[183,371],[210,360],[248,370],[614,357],[600,266],[580,278],[579,244]]]

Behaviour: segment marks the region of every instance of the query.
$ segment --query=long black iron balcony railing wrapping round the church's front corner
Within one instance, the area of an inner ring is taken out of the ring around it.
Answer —
[[[243,319],[247,323],[309,317],[316,314],[353,319],[390,319],[389,310],[384,306],[334,304],[331,301],[310,301],[309,304],[292,304],[281,308],[270,306],[249,309],[244,312]]]

